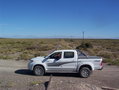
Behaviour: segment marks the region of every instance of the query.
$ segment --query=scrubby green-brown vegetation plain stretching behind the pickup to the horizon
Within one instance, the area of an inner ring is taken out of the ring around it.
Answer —
[[[0,39],[0,59],[28,60],[57,49],[80,49],[88,55],[103,57],[104,62],[119,65],[118,39]]]

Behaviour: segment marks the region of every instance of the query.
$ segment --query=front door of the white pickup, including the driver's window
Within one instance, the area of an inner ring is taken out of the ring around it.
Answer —
[[[61,59],[62,52],[51,54],[46,61],[47,72],[61,72]]]

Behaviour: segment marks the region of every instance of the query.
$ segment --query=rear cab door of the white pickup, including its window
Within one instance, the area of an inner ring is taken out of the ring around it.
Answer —
[[[62,62],[62,70],[64,72],[75,72],[77,59],[75,58],[75,53],[73,51],[64,51]]]

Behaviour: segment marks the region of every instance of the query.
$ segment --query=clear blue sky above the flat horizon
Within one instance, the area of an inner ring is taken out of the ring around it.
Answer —
[[[0,37],[119,38],[119,0],[0,0]]]

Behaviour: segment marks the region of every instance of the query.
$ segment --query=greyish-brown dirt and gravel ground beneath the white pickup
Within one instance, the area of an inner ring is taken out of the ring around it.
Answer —
[[[104,64],[89,78],[76,74],[35,76],[27,70],[28,61],[0,60],[0,90],[102,90],[101,87],[119,89],[119,67]]]

